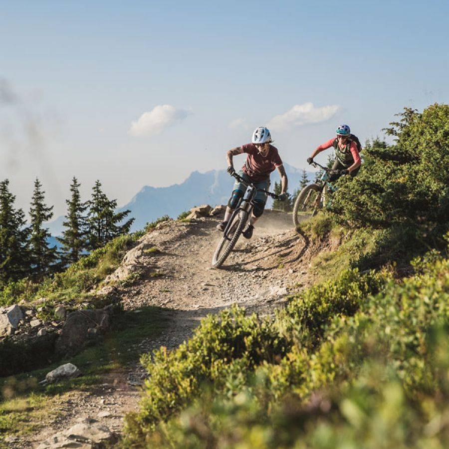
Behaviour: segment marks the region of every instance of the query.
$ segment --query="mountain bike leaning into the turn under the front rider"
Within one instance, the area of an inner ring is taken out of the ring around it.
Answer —
[[[212,257],[212,267],[219,267],[225,260],[226,257],[232,251],[232,248],[237,243],[238,237],[240,237],[243,228],[246,225],[249,217],[251,217],[252,209],[254,208],[254,198],[257,192],[264,192],[268,196],[274,199],[279,199],[279,197],[267,190],[257,189],[254,184],[248,183],[237,173],[233,173],[232,176],[240,183],[246,186],[246,191],[242,198],[240,198],[237,203],[237,207],[231,215],[231,218],[227,222],[225,230],[223,231],[223,237],[220,239],[217,249],[215,250],[214,256]]]

